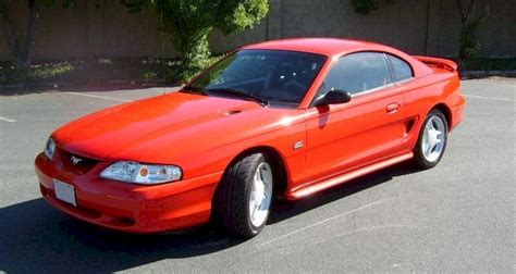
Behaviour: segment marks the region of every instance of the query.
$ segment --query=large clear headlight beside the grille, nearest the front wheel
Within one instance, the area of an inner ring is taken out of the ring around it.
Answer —
[[[181,169],[175,165],[151,165],[137,162],[116,162],[106,167],[100,177],[133,184],[153,185],[181,179]]]

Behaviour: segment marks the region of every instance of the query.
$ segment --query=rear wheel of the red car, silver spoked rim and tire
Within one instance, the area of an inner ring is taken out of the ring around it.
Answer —
[[[440,110],[432,110],[421,126],[414,149],[414,160],[420,169],[432,169],[441,161],[446,149],[447,130],[446,116]]]

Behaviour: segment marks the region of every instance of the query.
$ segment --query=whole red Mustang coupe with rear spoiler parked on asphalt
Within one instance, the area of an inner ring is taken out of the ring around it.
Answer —
[[[100,226],[155,233],[211,220],[253,237],[273,197],[407,160],[433,167],[464,108],[452,61],[357,40],[268,41],[177,92],[59,128],[36,173],[48,202]]]

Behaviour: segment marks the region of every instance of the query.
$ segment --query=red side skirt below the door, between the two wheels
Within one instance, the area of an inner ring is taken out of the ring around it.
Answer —
[[[287,200],[297,200],[297,199],[307,197],[311,194],[321,191],[323,189],[328,189],[330,187],[333,187],[333,186],[346,183],[348,180],[352,180],[354,178],[364,176],[366,174],[376,172],[378,170],[382,170],[382,169],[388,167],[390,165],[401,163],[401,162],[409,160],[411,158],[414,158],[414,153],[411,151],[406,152],[406,153],[401,154],[401,155],[397,155],[397,157],[389,158],[386,160],[376,162],[373,164],[370,164],[370,165],[367,165],[367,166],[364,166],[364,167],[360,167],[360,169],[357,169],[357,170],[354,170],[354,171],[351,171],[351,172],[346,172],[344,174],[336,175],[336,176],[330,177],[328,179],[320,180],[320,182],[310,184],[308,186],[302,187],[299,189],[296,189],[295,191],[287,194],[286,199]]]

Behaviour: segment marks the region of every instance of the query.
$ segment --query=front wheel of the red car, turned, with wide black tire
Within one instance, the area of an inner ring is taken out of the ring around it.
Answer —
[[[216,191],[213,221],[232,236],[253,238],[258,235],[269,219],[273,174],[272,164],[262,153],[246,155],[232,164]],[[257,180],[257,176],[260,179]]]

